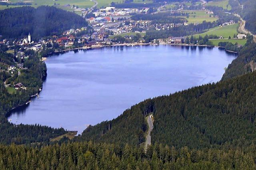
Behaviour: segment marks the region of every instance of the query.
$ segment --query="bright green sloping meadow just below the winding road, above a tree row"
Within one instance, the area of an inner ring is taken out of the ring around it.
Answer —
[[[222,36],[223,38],[228,38],[228,36],[230,36],[231,38],[233,38],[234,34],[237,34],[237,27],[238,27],[238,23],[232,24],[232,25],[226,25],[223,27],[214,27],[209,29],[208,31],[204,32],[204,33],[200,33],[200,34],[195,34],[194,36],[196,38],[199,37],[199,35],[201,35],[202,37],[204,37],[206,34],[207,35],[218,35],[218,36]]]

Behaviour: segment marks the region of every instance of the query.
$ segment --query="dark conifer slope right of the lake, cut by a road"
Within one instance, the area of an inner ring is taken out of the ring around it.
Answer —
[[[153,143],[197,149],[248,147],[256,139],[255,84],[253,72],[149,99],[112,121],[89,127],[76,140],[140,145],[144,142],[145,116],[153,112]]]

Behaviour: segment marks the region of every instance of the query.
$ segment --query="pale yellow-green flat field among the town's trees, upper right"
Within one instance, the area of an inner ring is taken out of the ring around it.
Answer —
[[[188,23],[202,23],[205,21],[216,21],[218,18],[210,17],[210,14],[206,14],[206,11],[204,10],[183,10],[182,12],[188,12],[189,18],[186,18],[188,20]]]

